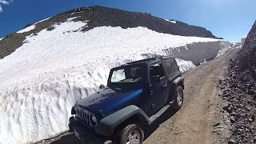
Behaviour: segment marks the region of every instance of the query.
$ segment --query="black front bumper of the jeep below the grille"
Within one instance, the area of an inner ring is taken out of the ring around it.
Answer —
[[[104,143],[103,137],[97,136],[93,131],[90,131],[86,126],[83,126],[74,117],[70,117],[69,123],[70,130],[74,130],[74,135],[83,142],[102,144]]]

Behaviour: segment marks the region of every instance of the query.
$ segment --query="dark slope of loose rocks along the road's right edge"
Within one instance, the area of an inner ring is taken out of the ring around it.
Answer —
[[[222,82],[224,121],[230,123],[230,143],[256,142],[256,22],[242,50],[230,61]]]

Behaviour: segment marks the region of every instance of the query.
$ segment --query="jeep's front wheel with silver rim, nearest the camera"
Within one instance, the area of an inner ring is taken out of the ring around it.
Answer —
[[[143,138],[143,130],[135,124],[130,124],[120,131],[120,133],[115,138],[114,144],[126,144],[129,141],[131,143],[136,141],[138,144],[142,144]]]

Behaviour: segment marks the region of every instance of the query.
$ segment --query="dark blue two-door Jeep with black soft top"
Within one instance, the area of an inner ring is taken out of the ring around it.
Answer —
[[[141,144],[142,126],[183,102],[184,79],[174,58],[147,58],[110,70],[107,86],[72,107],[69,127],[85,142]]]

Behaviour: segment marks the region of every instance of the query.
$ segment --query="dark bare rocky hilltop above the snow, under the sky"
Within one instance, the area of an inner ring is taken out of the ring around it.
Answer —
[[[88,25],[82,27],[82,31],[91,30],[98,26],[120,26],[124,29],[143,26],[164,34],[217,38],[209,30],[200,26],[190,26],[178,21],[175,21],[175,23],[168,22],[147,13],[142,14],[102,6],[92,6],[70,10],[45,21],[28,24],[27,26],[34,26],[33,30],[9,34],[0,41],[0,59],[14,52],[19,46],[22,46],[26,36],[38,34],[43,29],[54,30],[53,24],[66,22],[68,18],[73,18],[74,22],[87,22]]]

